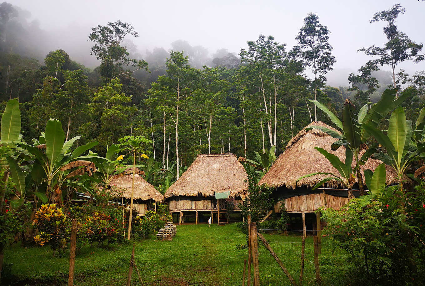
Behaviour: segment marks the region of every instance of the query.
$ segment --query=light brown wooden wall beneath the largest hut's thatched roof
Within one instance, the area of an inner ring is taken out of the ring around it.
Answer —
[[[325,206],[325,197],[323,197],[323,194],[307,194],[290,197],[285,199],[284,202],[287,212],[316,211],[318,208]],[[275,212],[280,212],[282,203],[283,201],[279,201],[275,204]],[[326,203],[328,208],[339,210],[343,205],[348,203],[348,198],[326,194]]]

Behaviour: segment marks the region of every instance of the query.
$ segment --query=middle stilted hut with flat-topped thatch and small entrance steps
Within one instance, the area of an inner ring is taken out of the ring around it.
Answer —
[[[208,214],[219,225],[227,223],[227,205],[240,211],[238,204],[248,190],[248,177],[235,154],[198,155],[192,165],[164,194],[170,204],[170,214],[185,217]]]

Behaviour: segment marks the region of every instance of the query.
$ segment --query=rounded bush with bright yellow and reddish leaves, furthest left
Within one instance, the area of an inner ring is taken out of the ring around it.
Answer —
[[[67,240],[65,239],[68,225],[66,216],[62,208],[57,208],[56,204],[44,204],[35,213],[34,225],[39,233],[34,236],[34,241],[39,245],[50,244],[53,254],[57,249],[64,249]]]

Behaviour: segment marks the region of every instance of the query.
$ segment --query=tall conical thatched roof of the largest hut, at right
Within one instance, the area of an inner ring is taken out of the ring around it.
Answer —
[[[323,122],[313,122],[310,125],[306,126],[301,130],[296,136],[294,136],[289,143],[286,145],[286,150],[276,159],[273,166],[270,168],[269,172],[264,175],[260,180],[259,184],[266,183],[268,186],[280,187],[284,186],[289,189],[295,189],[300,186],[309,186],[313,187],[323,178],[329,177],[329,175],[314,175],[309,178],[303,178],[297,182],[297,179],[303,175],[308,175],[315,172],[327,172],[338,175],[337,169],[335,169],[332,164],[319,153],[314,147],[320,147],[337,155],[341,161],[345,161],[345,148],[341,147],[337,151],[331,150],[331,145],[336,139],[332,138],[330,135],[320,131],[318,129],[311,129],[306,131],[307,127],[311,126],[323,126],[334,131],[336,129],[326,125]],[[339,131],[337,131],[340,133]],[[362,150],[360,155],[363,155],[365,150]],[[354,161],[354,160],[353,160]],[[364,181],[364,170],[371,169],[372,171],[375,168],[382,164],[381,161],[369,158],[364,166],[361,166],[361,173],[363,175]],[[353,162],[354,167],[354,162]],[[393,167],[386,166],[387,179],[386,183],[388,185],[398,183],[397,175]],[[357,178],[356,178],[357,182]],[[331,180],[328,183],[324,184],[328,188],[345,188],[342,182],[337,182]]]

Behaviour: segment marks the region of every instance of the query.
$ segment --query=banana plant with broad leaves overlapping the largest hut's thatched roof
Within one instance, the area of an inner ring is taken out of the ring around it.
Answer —
[[[404,92],[399,97],[394,100],[397,91],[395,89],[386,89],[383,92],[381,99],[378,103],[375,103],[369,110],[369,103],[365,104],[360,108],[358,114],[354,112],[354,106],[346,100],[346,103],[342,109],[343,121],[341,122],[338,117],[329,111],[326,106],[319,103],[316,100],[310,100],[318,108],[324,111],[331,121],[342,130],[342,134],[335,132],[329,128],[321,126],[313,126],[311,128],[319,129],[333,138],[337,139],[332,146],[331,150],[337,150],[339,147],[344,146],[351,150],[351,153],[354,155],[354,168],[352,169],[353,176],[357,177],[357,182],[359,184],[360,195],[365,194],[363,188],[363,178],[360,172],[360,166],[364,165],[370,155],[373,153],[374,147],[370,148],[367,152],[363,153],[360,156],[360,153],[365,149],[365,141],[369,136],[368,131],[363,127],[364,125],[370,126],[372,128],[377,128],[382,118],[388,114],[389,111],[398,106],[405,98],[410,96],[408,92]]]

